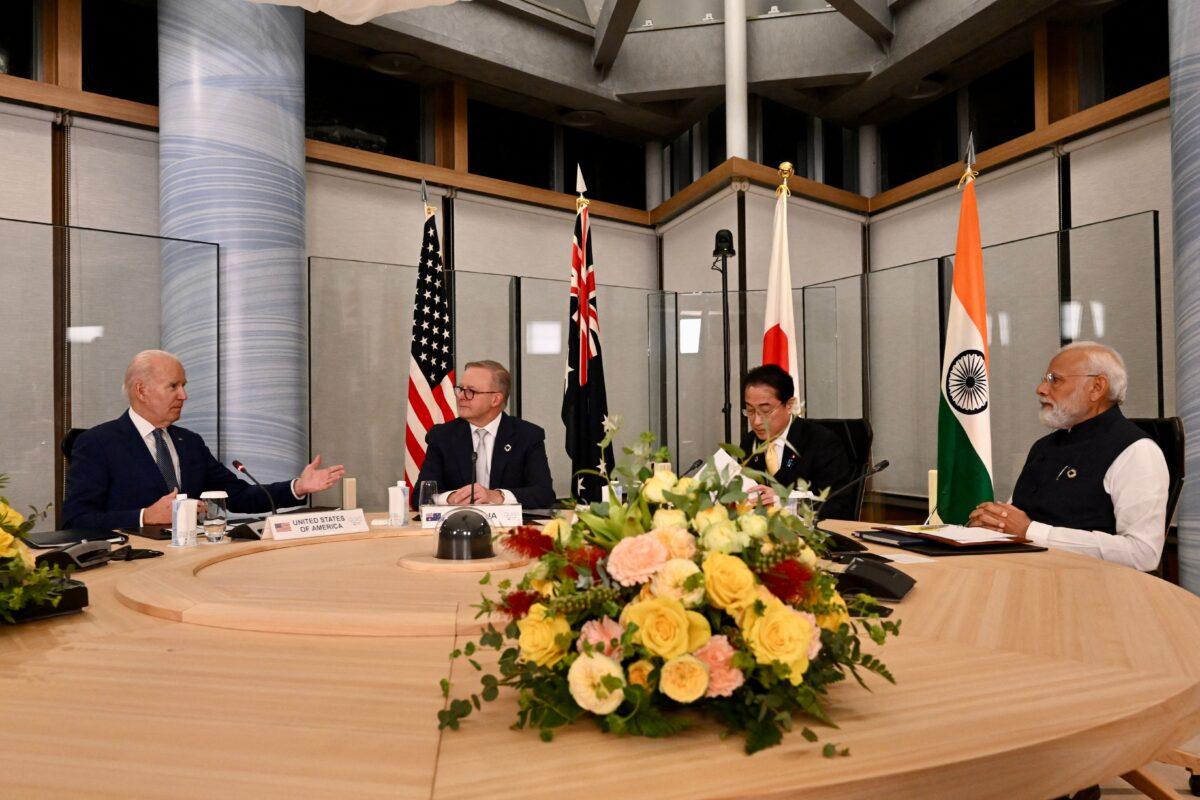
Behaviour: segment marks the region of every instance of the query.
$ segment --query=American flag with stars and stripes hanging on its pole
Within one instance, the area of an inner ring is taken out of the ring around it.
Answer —
[[[421,185],[425,199],[425,186]],[[425,463],[425,434],[434,425],[455,419],[454,331],[446,273],[433,206],[425,200],[425,235],[413,301],[413,347],[408,365],[408,421],[404,428],[404,480],[415,486]]]

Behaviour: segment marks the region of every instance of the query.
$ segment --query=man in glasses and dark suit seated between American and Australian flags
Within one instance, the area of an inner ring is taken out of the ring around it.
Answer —
[[[438,503],[520,503],[548,509],[554,482],[546,459],[546,432],[503,413],[509,371],[496,361],[472,361],[455,386],[458,419],[434,425],[425,437],[418,476],[446,489]],[[414,504],[419,498],[413,498]]]

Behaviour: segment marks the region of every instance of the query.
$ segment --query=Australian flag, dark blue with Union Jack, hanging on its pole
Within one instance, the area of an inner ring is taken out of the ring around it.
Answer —
[[[566,426],[566,455],[571,457],[571,494],[576,500],[600,499],[605,481],[595,475],[578,475],[587,469],[608,474],[612,446],[600,450],[608,416],[604,385],[604,357],[600,354],[600,323],[596,313],[596,278],[592,267],[592,230],[587,200],[580,198],[571,242],[571,306],[566,347],[566,378],[563,387],[563,425]]]

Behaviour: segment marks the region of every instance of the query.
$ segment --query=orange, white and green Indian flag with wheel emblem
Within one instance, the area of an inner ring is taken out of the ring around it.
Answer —
[[[973,175],[967,173],[959,211],[937,409],[937,515],[953,524],[965,524],[976,505],[992,499],[988,296]]]

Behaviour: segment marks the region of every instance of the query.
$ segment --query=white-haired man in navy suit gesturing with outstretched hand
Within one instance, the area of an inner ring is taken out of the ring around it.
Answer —
[[[125,371],[130,410],[85,431],[71,451],[64,528],[169,525],[170,504],[182,492],[224,491],[230,511],[269,511],[258,487],[242,481],[209,452],[198,434],[174,423],[187,399],[187,375],[179,359],[163,350],[133,356]],[[322,469],[320,456],[294,481],[266,485],[277,507],[299,505],[328,489],[344,470]]]

